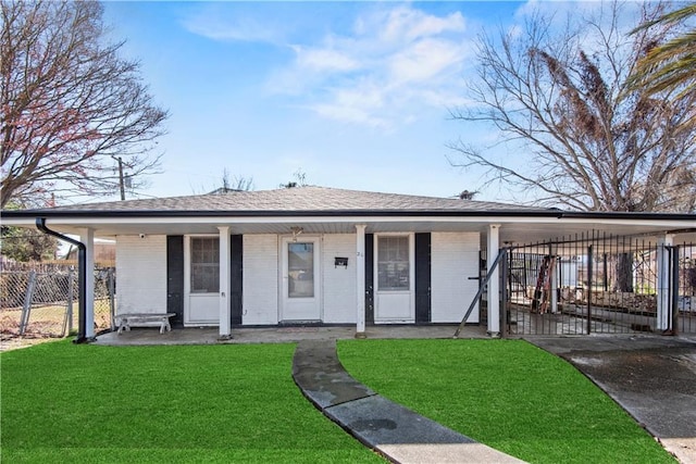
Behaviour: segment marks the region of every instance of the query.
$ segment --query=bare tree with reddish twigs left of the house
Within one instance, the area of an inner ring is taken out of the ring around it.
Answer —
[[[158,168],[167,112],[108,43],[94,1],[1,0],[1,205],[117,191]]]

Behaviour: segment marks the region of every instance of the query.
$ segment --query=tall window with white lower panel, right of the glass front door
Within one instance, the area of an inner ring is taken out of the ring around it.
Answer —
[[[376,324],[415,322],[415,246],[413,234],[375,236]]]

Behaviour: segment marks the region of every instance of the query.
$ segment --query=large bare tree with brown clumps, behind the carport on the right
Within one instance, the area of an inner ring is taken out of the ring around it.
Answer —
[[[482,36],[473,102],[451,115],[488,123],[500,138],[483,148],[460,140],[450,162],[484,167],[486,184],[535,191],[545,204],[693,211],[696,95],[678,99],[673,90],[650,95],[627,85],[641,57],[678,25],[627,33],[662,12],[661,4],[601,2],[569,14],[564,27],[536,13],[521,28]],[[517,164],[492,155],[500,146],[514,147]]]

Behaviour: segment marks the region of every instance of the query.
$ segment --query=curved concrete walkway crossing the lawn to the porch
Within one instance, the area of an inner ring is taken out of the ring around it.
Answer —
[[[521,463],[376,394],[344,369],[336,340],[303,340],[293,378],[327,417],[397,463]]]

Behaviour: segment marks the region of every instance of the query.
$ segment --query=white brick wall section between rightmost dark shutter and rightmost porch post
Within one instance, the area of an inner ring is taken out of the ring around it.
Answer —
[[[460,323],[478,290],[480,235],[433,233],[431,236],[431,314],[434,323]],[[478,322],[478,308],[468,322]]]

